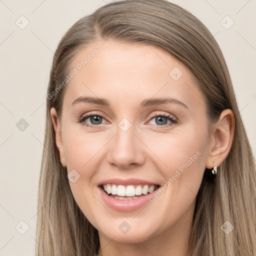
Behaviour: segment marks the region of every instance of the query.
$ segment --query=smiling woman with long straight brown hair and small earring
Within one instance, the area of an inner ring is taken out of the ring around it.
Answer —
[[[124,0],[54,53],[36,255],[256,255],[255,164],[221,50],[191,13]]]

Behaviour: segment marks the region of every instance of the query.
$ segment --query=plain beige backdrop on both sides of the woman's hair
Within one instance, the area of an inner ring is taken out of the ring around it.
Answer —
[[[37,185],[52,55],[68,27],[106,2],[0,0],[0,256],[34,254]],[[172,2],[198,17],[219,43],[255,155],[256,1]],[[21,15],[25,18],[19,18]],[[234,21],[229,29],[224,26],[232,20],[223,19],[226,15]],[[20,29],[26,19],[29,24]],[[17,128],[21,118],[28,124],[23,131]]]

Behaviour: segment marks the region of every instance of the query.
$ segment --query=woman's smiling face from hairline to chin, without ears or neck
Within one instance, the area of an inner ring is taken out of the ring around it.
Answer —
[[[187,229],[210,141],[194,76],[159,47],[110,40],[81,50],[70,72],[58,148],[84,215],[115,241]]]

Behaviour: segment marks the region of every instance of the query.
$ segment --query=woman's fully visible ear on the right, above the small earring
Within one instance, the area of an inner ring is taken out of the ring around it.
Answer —
[[[224,109],[212,127],[212,136],[205,167],[219,166],[230,151],[234,135],[234,115],[231,109]]]

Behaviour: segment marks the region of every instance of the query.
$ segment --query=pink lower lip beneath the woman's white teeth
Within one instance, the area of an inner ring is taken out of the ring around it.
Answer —
[[[103,197],[103,200],[105,201],[105,203],[110,208],[117,211],[132,211],[142,207],[147,202],[150,202],[149,197],[153,196],[153,194],[156,193],[159,188],[160,187],[158,187],[157,189],[155,189],[153,192],[149,194],[143,195],[135,199],[119,200],[107,195],[107,193],[100,186],[98,186],[100,194]]]

